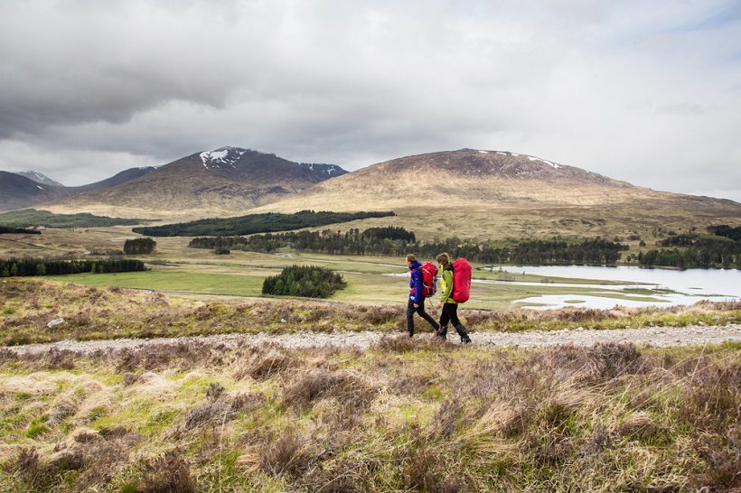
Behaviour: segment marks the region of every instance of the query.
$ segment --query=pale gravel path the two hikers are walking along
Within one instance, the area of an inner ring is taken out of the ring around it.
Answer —
[[[325,345],[356,346],[366,349],[378,342],[384,334],[379,332],[297,332],[294,334],[227,334],[216,336],[170,338],[170,339],[117,339],[117,340],[62,340],[51,344],[29,344],[26,346],[11,346],[6,349],[17,354],[39,354],[50,349],[71,350],[80,354],[89,354],[97,350],[139,349],[157,344],[172,344],[175,342],[209,342],[223,343],[236,346],[239,342],[262,345],[267,342],[276,343],[286,348],[311,348]],[[387,337],[405,337],[402,333],[391,334]],[[432,338],[431,333],[417,334],[415,338]],[[654,347],[668,346],[702,346],[704,344],[718,344],[727,340],[741,342],[741,325],[705,326],[690,325],[687,327],[652,327],[647,329],[624,330],[555,330],[549,332],[473,332],[473,345],[479,347],[510,347],[510,348],[545,348],[557,344],[575,344],[578,346],[593,346],[605,342],[633,342],[638,345],[650,344]],[[458,344],[455,333],[449,337]]]

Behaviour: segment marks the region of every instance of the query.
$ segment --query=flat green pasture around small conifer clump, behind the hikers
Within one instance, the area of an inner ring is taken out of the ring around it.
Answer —
[[[152,290],[159,293],[188,295],[191,297],[228,296],[260,297],[262,284],[269,275],[278,274],[288,265],[322,265],[342,274],[347,287],[333,295],[330,301],[360,304],[406,303],[408,270],[403,258],[380,256],[329,256],[278,252],[258,254],[235,251],[228,256],[216,256],[207,250],[177,247],[165,248],[154,256],[140,257],[151,270],[142,273],[77,274],[51,276],[61,282],[78,284],[112,285],[126,288]],[[595,281],[572,278],[549,278],[541,275],[522,274],[516,267],[488,270],[474,265],[474,280],[500,281],[496,284],[475,283],[472,298],[466,308],[473,310],[507,310],[513,302],[523,298],[548,294],[605,296],[620,300],[638,300],[637,294],[651,294],[650,290],[626,290],[605,293],[579,284]],[[530,283],[532,285],[520,285]],[[554,284],[573,284],[572,287]],[[620,281],[600,284],[621,285]],[[433,308],[436,299],[428,301]],[[434,308],[433,308],[434,309]]]

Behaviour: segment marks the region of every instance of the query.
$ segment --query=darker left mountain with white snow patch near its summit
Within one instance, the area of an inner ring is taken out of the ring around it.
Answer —
[[[193,153],[135,180],[60,200],[45,209],[148,218],[237,215],[344,172],[330,164],[298,164],[273,153],[221,147]]]

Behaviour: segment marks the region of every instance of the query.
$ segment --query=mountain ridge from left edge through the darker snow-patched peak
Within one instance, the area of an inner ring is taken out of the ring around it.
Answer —
[[[179,170],[173,172],[174,166]],[[153,172],[149,179],[140,180]],[[205,208],[221,214],[262,205],[344,173],[335,164],[293,163],[274,153],[225,146],[192,153],[163,166],[131,168],[88,185],[42,189],[46,193],[36,191],[30,183],[0,181],[0,211],[48,206],[115,215],[115,209],[121,207],[184,209],[185,213]],[[133,181],[136,183],[128,184]]]

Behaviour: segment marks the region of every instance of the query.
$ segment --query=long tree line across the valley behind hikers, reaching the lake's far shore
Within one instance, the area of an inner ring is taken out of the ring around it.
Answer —
[[[474,242],[458,237],[436,242],[417,242],[414,233],[404,228],[352,228],[344,233],[296,231],[250,237],[196,237],[189,247],[230,248],[270,253],[291,247],[300,251],[330,255],[405,256],[416,252],[420,257],[434,258],[440,252],[465,257],[482,264],[519,265],[613,265],[627,245],[602,238],[581,241],[552,240],[521,241],[511,247],[498,247],[492,242]]]

